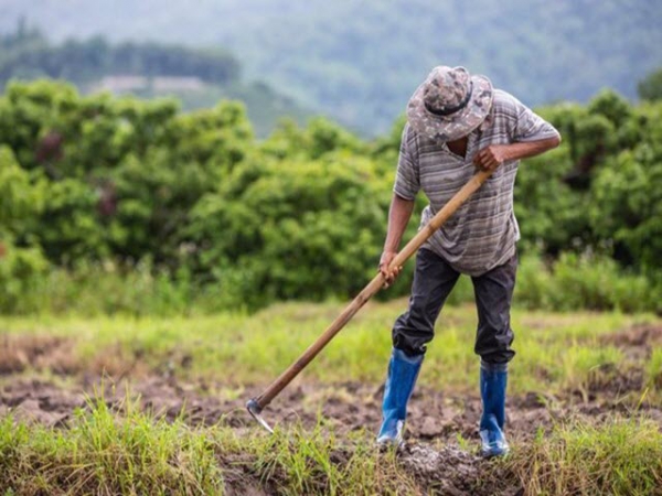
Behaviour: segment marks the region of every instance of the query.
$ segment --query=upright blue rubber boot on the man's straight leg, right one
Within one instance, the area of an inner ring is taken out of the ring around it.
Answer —
[[[485,457],[502,456],[510,450],[503,435],[506,385],[508,364],[481,363],[480,396],[483,412],[480,419],[480,439]]]

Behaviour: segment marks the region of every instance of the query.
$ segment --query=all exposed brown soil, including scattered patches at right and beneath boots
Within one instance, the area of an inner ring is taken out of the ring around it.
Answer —
[[[265,385],[227,390],[222,384],[184,382],[154,371],[102,376],[97,370],[79,370],[71,359],[63,358],[67,355],[63,351],[68,346],[64,339],[12,339],[10,343],[6,337],[2,342],[0,337],[0,418],[11,412],[28,422],[65,429],[76,409],[88,408],[89,397],[103,398],[121,414],[127,408],[125,398],[129,391],[141,409],[169,421],[181,418],[192,425],[227,425],[239,434],[259,430],[245,410],[245,402],[261,392]],[[609,343],[626,349],[628,356],[643,356],[644,353],[650,355],[651,343],[656,339],[662,341],[660,328],[638,326],[609,337]],[[57,376],[52,380],[29,379],[23,374],[28,367],[42,367]],[[622,400],[623,395],[641,393],[644,387],[642,370],[622,371],[616,366],[605,366],[594,374],[588,393],[511,396],[508,435],[521,441],[536,435],[541,429],[551,430],[558,422],[581,419],[600,423],[615,414],[645,416],[662,428],[659,405],[644,401],[632,406]],[[323,425],[332,427],[340,436],[352,431],[370,433],[378,427],[382,389],[377,384],[330,386],[295,381],[265,409],[264,416],[281,428],[298,423],[311,429],[322,419]],[[417,388],[409,403],[406,443],[398,452],[398,463],[424,490],[478,496],[521,493],[516,483],[508,477],[500,487],[477,486],[477,481],[484,479],[481,474],[488,470],[494,473],[489,462],[477,456],[480,411],[477,395],[453,396]],[[268,492],[268,487],[260,488],[242,477],[236,482],[231,478],[229,483],[229,493]]]

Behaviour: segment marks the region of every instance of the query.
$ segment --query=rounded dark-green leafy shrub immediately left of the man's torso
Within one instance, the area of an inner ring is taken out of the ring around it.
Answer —
[[[249,304],[346,298],[376,272],[388,198],[362,159],[244,164],[192,212],[197,270],[243,274]]]

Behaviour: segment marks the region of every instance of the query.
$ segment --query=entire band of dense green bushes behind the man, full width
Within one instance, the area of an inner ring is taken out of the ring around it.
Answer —
[[[519,174],[517,304],[660,311],[662,105],[541,111],[564,142]],[[324,119],[258,142],[238,104],[180,114],[50,82],[10,85],[0,117],[3,312],[254,310],[345,300],[375,273],[402,120],[372,142]]]

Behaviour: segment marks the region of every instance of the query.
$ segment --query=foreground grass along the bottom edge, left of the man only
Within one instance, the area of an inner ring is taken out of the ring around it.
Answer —
[[[191,429],[131,407],[116,416],[102,398],[66,430],[0,421],[0,494],[415,494],[395,456],[365,433],[339,440],[321,427],[239,436]],[[404,493],[403,493],[404,492]]]

